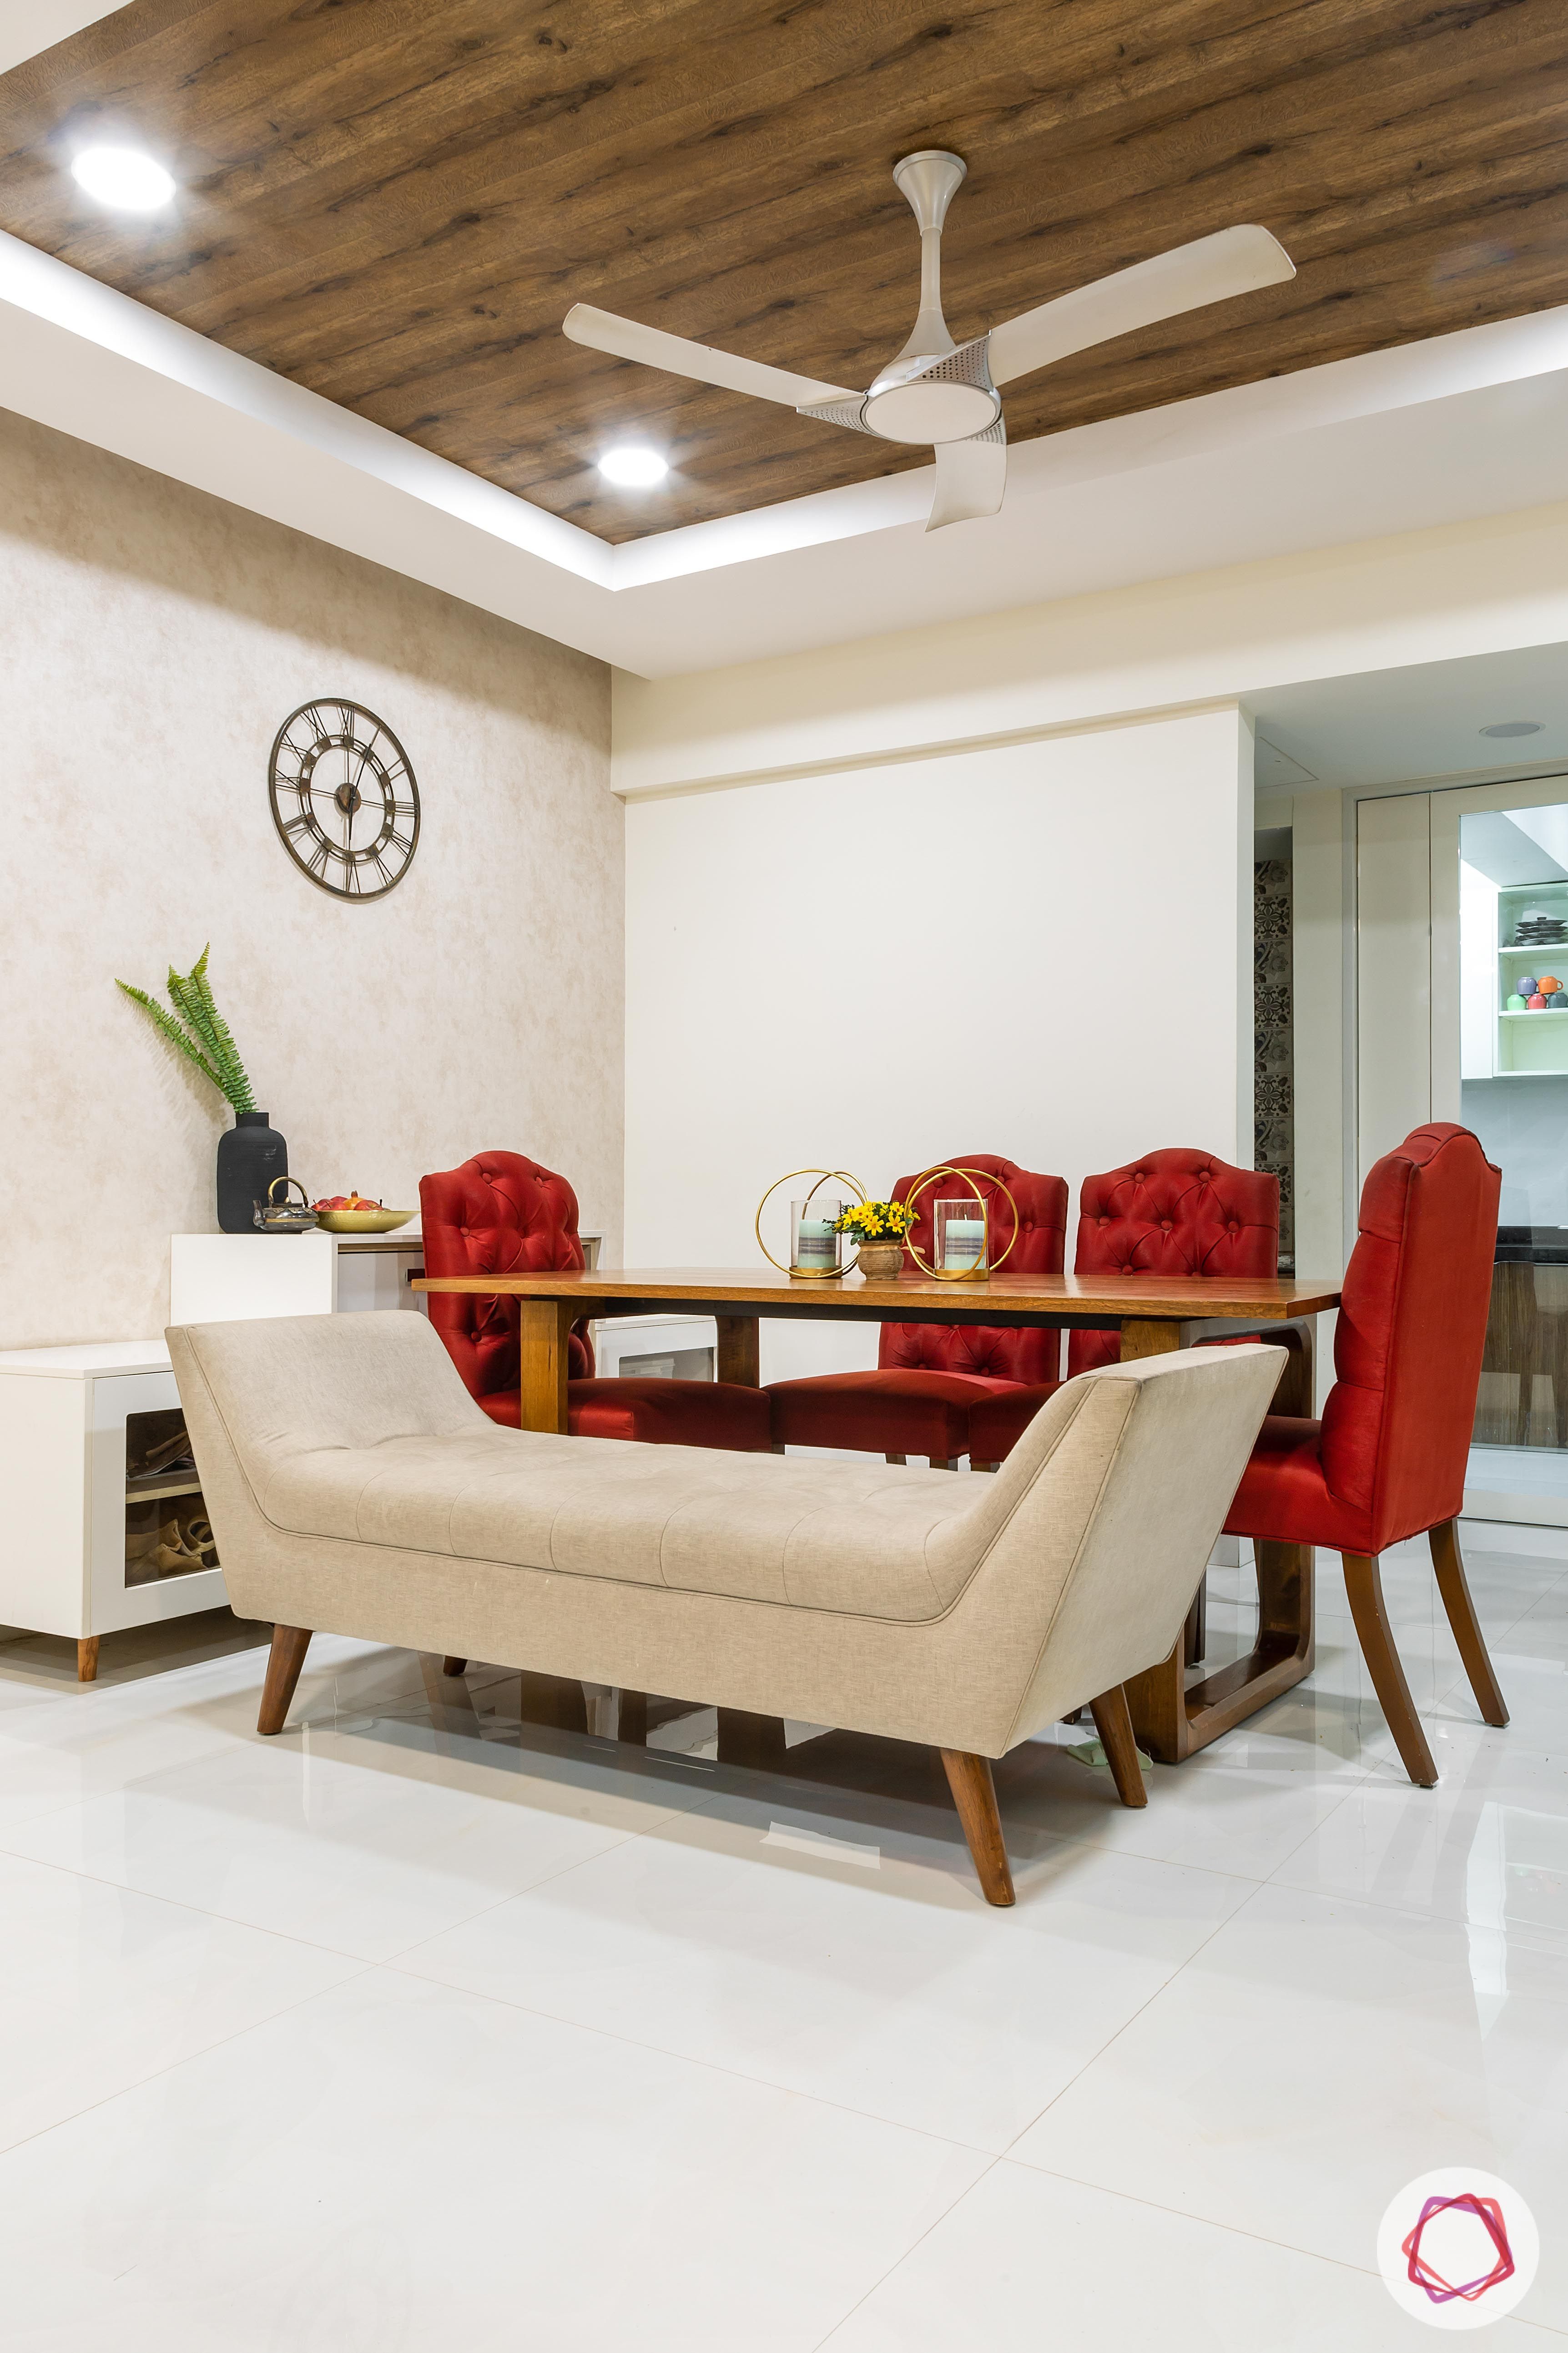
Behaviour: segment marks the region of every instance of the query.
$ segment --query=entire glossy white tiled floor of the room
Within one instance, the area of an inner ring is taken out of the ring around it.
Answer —
[[[745,1774],[329,1638],[263,1741],[242,1631],[0,1642],[7,2353],[1361,2353],[1462,2158],[1547,2242],[1493,2341],[1568,2339],[1568,1534],[1467,1558],[1505,1732],[1385,1579],[1434,1791],[1324,1558],[1316,1673],[1147,1809],[1004,1760],[1011,1913],[898,1744]]]

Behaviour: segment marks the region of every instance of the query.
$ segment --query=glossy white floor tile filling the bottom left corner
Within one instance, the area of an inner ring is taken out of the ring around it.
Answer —
[[[0,2158],[7,2344],[804,2353],[983,2165],[364,1972]]]

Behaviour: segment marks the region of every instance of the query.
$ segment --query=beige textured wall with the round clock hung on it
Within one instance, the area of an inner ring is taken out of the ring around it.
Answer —
[[[169,1233],[214,1231],[226,1108],[113,986],[207,939],[310,1193],[416,1207],[425,1169],[517,1148],[618,1249],[602,664],[0,412],[0,1346],[162,1329]],[[315,889],[273,831],[273,734],[317,694],[418,776],[381,904]]]

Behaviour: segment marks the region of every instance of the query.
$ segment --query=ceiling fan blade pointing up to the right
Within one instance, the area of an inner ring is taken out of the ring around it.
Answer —
[[[1072,351],[1107,344],[1114,334],[1152,327],[1232,294],[1251,294],[1253,287],[1281,285],[1286,278],[1295,278],[1288,252],[1253,224],[1173,245],[1168,254],[1135,261],[1131,271],[1098,278],[1056,301],[1041,301],[1037,311],[1023,311],[1006,327],[992,327],[992,384],[1011,384]]]

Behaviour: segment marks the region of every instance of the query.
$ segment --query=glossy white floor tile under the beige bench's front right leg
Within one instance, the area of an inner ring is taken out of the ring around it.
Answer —
[[[987,1920],[912,1814],[726,1793],[400,1967],[999,2151],[1251,1892],[1025,1828]]]

